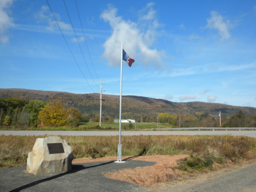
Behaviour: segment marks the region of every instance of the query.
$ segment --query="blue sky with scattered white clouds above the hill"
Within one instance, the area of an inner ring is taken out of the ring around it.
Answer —
[[[0,1],[0,88],[119,95],[123,44],[122,95],[256,107],[255,0],[48,3]]]

